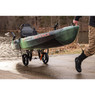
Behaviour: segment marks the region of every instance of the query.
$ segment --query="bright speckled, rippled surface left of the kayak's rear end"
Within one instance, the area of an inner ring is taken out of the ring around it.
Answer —
[[[12,37],[0,37],[0,58],[11,58],[11,57],[17,57],[20,56],[19,51],[16,52],[16,50],[12,50],[11,48],[11,41]]]

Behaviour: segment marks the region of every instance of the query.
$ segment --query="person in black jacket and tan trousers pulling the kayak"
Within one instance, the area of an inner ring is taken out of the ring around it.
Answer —
[[[79,19],[82,16],[76,16],[73,20],[73,23],[75,25],[78,24]],[[82,53],[75,58],[75,68],[78,72],[81,72],[81,64],[84,59],[87,57],[93,55],[95,53],[95,16],[90,16],[89,21],[89,46],[85,47],[85,49],[82,51]]]

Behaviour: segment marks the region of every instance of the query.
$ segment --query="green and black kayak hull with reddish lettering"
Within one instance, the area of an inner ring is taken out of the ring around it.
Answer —
[[[24,50],[64,46],[75,40],[78,30],[79,26],[68,26],[51,32],[20,38],[16,44]]]

